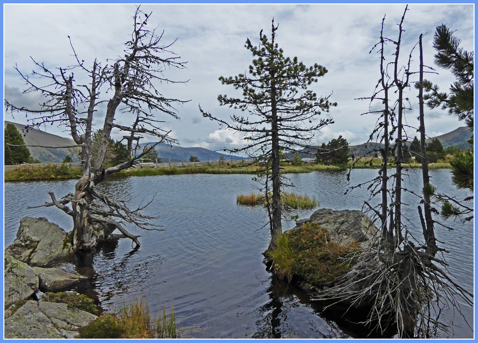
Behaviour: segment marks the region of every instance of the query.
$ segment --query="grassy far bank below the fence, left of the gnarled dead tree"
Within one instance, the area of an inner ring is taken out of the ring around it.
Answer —
[[[44,167],[18,167],[4,171],[4,181],[66,180],[76,179],[81,169],[70,169],[66,164],[50,164]]]

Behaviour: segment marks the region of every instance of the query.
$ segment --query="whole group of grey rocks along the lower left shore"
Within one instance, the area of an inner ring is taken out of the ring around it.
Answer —
[[[43,292],[58,292],[88,280],[52,267],[72,256],[71,237],[58,225],[45,218],[20,220],[17,239],[4,252],[5,338],[74,338],[80,327],[97,318],[64,303],[39,299]]]

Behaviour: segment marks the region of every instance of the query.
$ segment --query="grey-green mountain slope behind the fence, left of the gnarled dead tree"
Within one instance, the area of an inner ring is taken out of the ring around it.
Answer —
[[[75,142],[71,138],[64,138],[46,132],[29,129],[28,133],[24,131],[25,125],[17,124],[12,121],[3,121],[3,127],[7,124],[13,124],[18,132],[22,134],[23,141],[26,145],[42,145],[49,147],[59,147],[59,146],[69,146],[74,145]],[[40,148],[40,147],[28,147],[30,155],[33,158],[38,158],[40,162],[52,162],[59,163],[62,162],[66,155],[70,155],[73,159],[73,162],[78,162],[78,149],[76,148]]]

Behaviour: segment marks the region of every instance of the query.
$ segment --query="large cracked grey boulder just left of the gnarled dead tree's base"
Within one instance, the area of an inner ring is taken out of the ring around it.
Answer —
[[[65,230],[45,218],[25,217],[20,220],[17,239],[5,252],[30,266],[46,266],[69,257],[73,250]]]

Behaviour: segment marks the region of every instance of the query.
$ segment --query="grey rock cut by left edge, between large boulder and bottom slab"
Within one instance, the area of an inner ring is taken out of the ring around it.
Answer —
[[[38,290],[38,273],[35,269],[8,254],[4,257],[3,280],[5,309],[18,300],[30,298]]]

